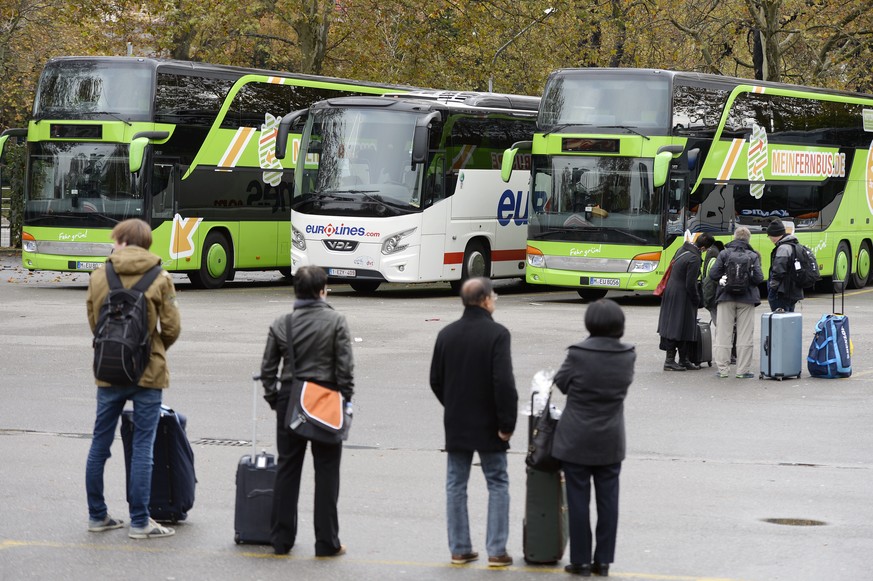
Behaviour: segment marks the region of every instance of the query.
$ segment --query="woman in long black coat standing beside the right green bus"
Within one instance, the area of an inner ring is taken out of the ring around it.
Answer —
[[[660,347],[667,352],[664,371],[700,369],[699,365],[688,359],[691,344],[697,338],[697,309],[701,303],[697,290],[700,264],[700,248],[692,242],[683,244],[673,257],[673,270],[661,296],[661,312],[658,316]]]

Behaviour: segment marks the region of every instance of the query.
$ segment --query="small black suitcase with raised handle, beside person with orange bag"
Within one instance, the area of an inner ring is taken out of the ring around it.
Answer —
[[[276,482],[276,457],[257,453],[258,383],[254,380],[252,399],[252,453],[239,460],[236,467],[236,508],[233,517],[233,540],[237,544],[270,544],[270,513],[273,510],[273,487]]]

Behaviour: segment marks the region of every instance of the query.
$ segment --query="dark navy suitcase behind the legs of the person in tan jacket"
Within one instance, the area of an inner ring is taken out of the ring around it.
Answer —
[[[158,522],[176,523],[188,518],[194,506],[194,451],[185,433],[187,418],[161,406],[161,419],[155,435],[152,468],[150,516]],[[133,411],[121,414],[121,442],[127,485],[130,486],[130,457],[133,450]]]

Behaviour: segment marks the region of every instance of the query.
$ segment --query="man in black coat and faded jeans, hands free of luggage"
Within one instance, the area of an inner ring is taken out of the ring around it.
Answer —
[[[491,280],[467,280],[461,287],[461,300],[464,314],[440,331],[430,367],[431,389],[444,408],[449,549],[456,565],[479,557],[473,551],[467,516],[467,481],[473,452],[478,452],[488,485],[488,565],[506,567],[512,564],[506,553],[506,450],[518,414],[509,331],[491,317],[497,300]]]

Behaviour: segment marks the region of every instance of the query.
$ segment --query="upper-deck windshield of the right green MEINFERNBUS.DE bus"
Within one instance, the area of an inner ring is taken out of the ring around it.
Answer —
[[[599,127],[663,135],[669,128],[669,113],[670,82],[666,76],[577,71],[550,79],[538,126],[542,131],[567,127],[578,132],[575,127]]]

